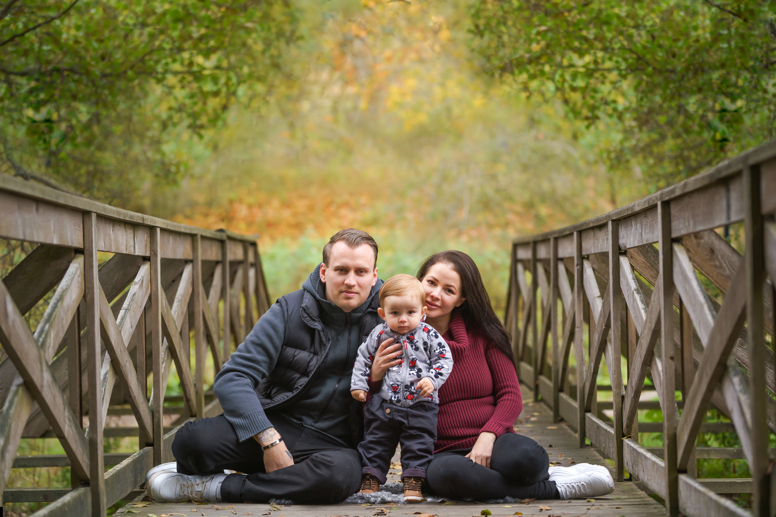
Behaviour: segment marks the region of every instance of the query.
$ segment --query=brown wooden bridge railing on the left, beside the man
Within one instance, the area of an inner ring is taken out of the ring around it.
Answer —
[[[180,425],[220,413],[206,393],[206,353],[220,370],[269,307],[258,247],[6,175],[0,238],[37,245],[0,283],[3,501],[54,501],[35,515],[104,517],[148,469],[173,460]],[[31,329],[25,314],[41,300]],[[173,364],[182,396],[164,406]],[[168,427],[165,413],[178,415]],[[134,415],[138,427],[106,428],[112,414]],[[139,452],[103,453],[103,437],[127,435]],[[16,457],[22,438],[46,437],[67,455]],[[12,468],[68,465],[72,488],[5,488]]]

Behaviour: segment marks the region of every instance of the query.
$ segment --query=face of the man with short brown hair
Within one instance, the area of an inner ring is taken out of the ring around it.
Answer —
[[[351,248],[335,242],[329,265],[320,265],[320,281],[326,284],[326,299],[332,304],[345,312],[360,307],[377,282],[375,252],[369,245]]]

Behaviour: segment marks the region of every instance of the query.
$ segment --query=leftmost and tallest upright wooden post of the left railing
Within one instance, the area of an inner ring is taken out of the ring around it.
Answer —
[[[99,271],[97,265],[97,214],[84,213],[84,300],[86,304],[86,382],[89,393],[89,477],[92,515],[104,517],[105,468],[102,461],[102,382],[100,370]]]

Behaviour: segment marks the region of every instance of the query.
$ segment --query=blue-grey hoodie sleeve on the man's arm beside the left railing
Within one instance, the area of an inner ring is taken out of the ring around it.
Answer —
[[[280,304],[273,304],[224,363],[213,383],[223,415],[241,442],[272,427],[255,389],[275,368],[285,338],[286,317]]]

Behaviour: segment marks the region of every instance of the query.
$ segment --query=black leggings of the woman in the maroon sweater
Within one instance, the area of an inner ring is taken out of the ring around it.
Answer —
[[[490,456],[490,468],[474,463],[472,449],[434,455],[426,482],[432,494],[449,499],[559,499],[555,481],[549,481],[549,456],[528,436],[507,432],[499,436]]]

